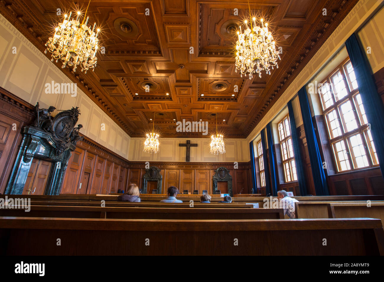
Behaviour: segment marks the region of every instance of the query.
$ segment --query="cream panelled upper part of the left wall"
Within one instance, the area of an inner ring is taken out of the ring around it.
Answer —
[[[16,54],[12,53],[16,47]],[[116,154],[129,158],[130,137],[106,115],[84,92],[71,94],[46,94],[45,83],[71,83],[51,61],[25,36],[0,15],[0,86],[23,100],[40,107],[55,106],[67,110],[78,106],[81,111],[78,124],[80,132]],[[55,114],[55,112],[53,113]],[[105,130],[101,130],[101,125]]]

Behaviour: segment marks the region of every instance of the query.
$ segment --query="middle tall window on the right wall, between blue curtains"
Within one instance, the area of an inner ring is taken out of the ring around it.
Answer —
[[[278,131],[285,182],[295,181],[297,180],[297,173],[288,115],[278,123]]]

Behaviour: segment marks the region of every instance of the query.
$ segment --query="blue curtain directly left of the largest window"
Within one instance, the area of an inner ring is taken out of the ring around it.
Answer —
[[[303,117],[308,152],[310,155],[311,170],[316,196],[328,196],[329,191],[327,181],[325,179],[323,161],[321,160],[319,146],[316,140],[316,135],[314,133],[310,104],[308,102],[308,96],[305,86],[303,86],[299,90],[298,96],[300,101],[301,116]]]

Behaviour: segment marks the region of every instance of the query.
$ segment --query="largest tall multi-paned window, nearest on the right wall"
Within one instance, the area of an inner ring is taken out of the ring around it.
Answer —
[[[338,172],[377,166],[376,149],[349,58],[320,84],[318,93]]]

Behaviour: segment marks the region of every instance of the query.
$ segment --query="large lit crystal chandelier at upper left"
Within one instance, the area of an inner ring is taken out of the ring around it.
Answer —
[[[89,0],[89,3],[91,0]],[[89,6],[88,3],[88,6]],[[85,15],[88,11],[85,12]],[[96,51],[98,49],[98,34],[100,29],[98,28],[96,33],[94,28],[96,23],[91,26],[87,26],[88,18],[84,23],[85,15],[83,22],[79,22],[80,12],[77,12],[76,20],[71,19],[72,12],[67,18],[67,15],[64,16],[63,23],[59,23],[55,28],[55,34],[53,37],[50,37],[45,44],[47,46],[44,53],[47,53],[47,50],[52,54],[51,61],[54,59],[57,61],[60,59],[63,61],[63,66],[65,68],[68,66],[73,66],[73,72],[76,71],[77,66],[80,66],[81,71],[85,71],[89,68],[93,69],[96,66],[97,58]]]

